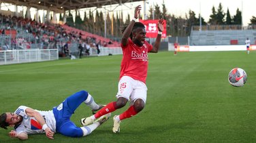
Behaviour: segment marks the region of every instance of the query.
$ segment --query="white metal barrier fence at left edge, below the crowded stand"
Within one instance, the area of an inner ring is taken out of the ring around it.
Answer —
[[[29,49],[0,51],[0,65],[58,60],[58,49]]]

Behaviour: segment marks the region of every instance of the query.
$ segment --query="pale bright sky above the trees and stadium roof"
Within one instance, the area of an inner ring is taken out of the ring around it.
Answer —
[[[111,6],[108,6],[108,9],[114,9],[115,11],[119,12],[123,11],[124,16],[126,16],[127,14],[133,16],[134,7],[137,5],[142,5],[142,14],[144,14],[144,10],[146,10],[146,13],[148,14],[150,6],[158,4],[161,7],[163,2],[167,7],[168,14],[174,14],[174,16],[182,16],[182,18],[185,18],[185,14],[189,14],[189,9],[191,9],[193,12],[195,12],[197,18],[199,17],[199,13],[201,12],[202,18],[204,18],[206,22],[208,22],[210,15],[212,14],[212,7],[214,6],[217,10],[219,7],[219,3],[221,3],[223,6],[223,12],[227,13],[227,8],[229,8],[231,16],[236,15],[236,10],[239,9],[242,12],[242,22],[244,26],[247,26],[249,23],[251,23],[250,19],[252,18],[252,16],[256,17],[256,0],[147,0],[146,7],[144,7],[143,1],[140,1],[125,3],[121,6],[118,6],[117,8],[114,5],[112,6],[112,8],[109,8]],[[7,10],[7,7],[9,7],[10,9],[14,8],[11,6],[6,6],[2,3],[1,9]],[[20,10],[22,9],[20,8],[19,11]],[[99,10],[102,10],[104,13],[105,9]],[[82,19],[84,18],[84,11],[80,11],[80,16]],[[35,9],[31,9],[32,18],[35,12]],[[89,14],[89,12],[86,12],[86,14]],[[40,15],[42,15],[42,12]],[[73,16],[75,16],[75,14],[73,14]],[[41,18],[42,17],[43,16],[41,16]],[[57,15],[57,19],[59,19],[59,15]]]

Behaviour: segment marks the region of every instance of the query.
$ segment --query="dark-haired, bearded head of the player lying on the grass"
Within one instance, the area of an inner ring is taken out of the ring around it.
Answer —
[[[18,125],[22,122],[22,116],[15,113],[3,113],[0,115],[0,127],[7,129],[7,126]]]

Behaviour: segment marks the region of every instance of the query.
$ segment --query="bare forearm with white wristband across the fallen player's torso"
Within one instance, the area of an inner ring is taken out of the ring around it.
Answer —
[[[50,128],[46,125],[46,122],[44,121],[44,118],[36,110],[33,110],[32,108],[27,108],[26,113],[27,113],[27,115],[29,115],[29,117],[35,117],[37,122],[40,125],[42,125],[44,131],[46,131],[46,136],[48,138],[54,139],[53,138],[54,132],[50,130]]]

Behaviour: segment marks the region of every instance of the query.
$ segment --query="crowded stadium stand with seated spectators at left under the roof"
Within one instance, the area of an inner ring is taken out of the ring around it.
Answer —
[[[80,43],[96,48],[100,41],[102,47],[120,47],[116,41],[65,24],[43,24],[27,18],[0,14],[0,26],[0,50],[59,49],[60,56],[67,56],[69,52],[78,54]],[[65,45],[69,49],[65,49]]]

